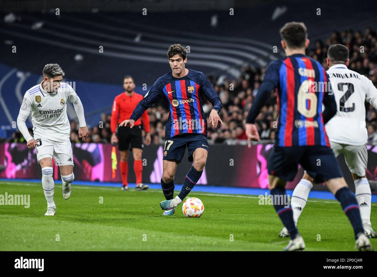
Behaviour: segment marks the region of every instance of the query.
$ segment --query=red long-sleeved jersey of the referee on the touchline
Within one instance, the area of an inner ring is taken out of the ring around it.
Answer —
[[[132,96],[127,96],[125,92],[116,96],[113,103],[113,109],[111,111],[111,132],[115,132],[116,126],[126,119],[130,119],[130,116],[135,109],[139,101],[143,99],[143,96],[134,92]],[[149,133],[149,115],[147,110],[143,113],[141,118],[135,121],[135,126],[141,125],[143,119],[144,130]]]

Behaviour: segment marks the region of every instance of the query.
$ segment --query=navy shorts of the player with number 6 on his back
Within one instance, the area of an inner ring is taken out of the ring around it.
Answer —
[[[293,181],[299,164],[314,178],[314,183],[343,177],[333,150],[325,146],[274,147],[268,158],[268,174]]]

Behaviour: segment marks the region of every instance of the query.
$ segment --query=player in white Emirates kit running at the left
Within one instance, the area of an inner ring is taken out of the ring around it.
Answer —
[[[89,136],[80,98],[69,84],[60,83],[63,76],[64,72],[58,64],[46,64],[42,83],[25,93],[17,118],[18,129],[28,142],[28,148],[36,147],[37,160],[42,168],[42,186],[47,200],[45,216],[54,216],[56,211],[52,158],[60,168],[64,199],[70,197],[70,184],[74,180],[67,101],[75,107],[80,124],[79,137],[84,141]],[[34,138],[25,124],[30,112]]]

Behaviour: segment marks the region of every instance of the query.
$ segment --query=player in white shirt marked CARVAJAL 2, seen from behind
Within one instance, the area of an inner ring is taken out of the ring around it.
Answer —
[[[377,89],[367,77],[347,68],[348,55],[348,48],[342,44],[331,45],[328,49],[329,69],[326,72],[336,99],[337,113],[325,127],[335,156],[343,153],[349,171],[352,173],[365,234],[375,238],[377,234],[372,229],[370,221],[372,194],[365,174],[368,163],[365,101],[377,109]],[[293,219],[296,225],[312,188],[313,178],[305,172],[291,198]],[[289,233],[284,227],[279,237],[287,236]]]

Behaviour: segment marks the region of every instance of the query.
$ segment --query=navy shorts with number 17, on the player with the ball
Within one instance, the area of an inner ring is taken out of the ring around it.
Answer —
[[[182,134],[167,139],[164,144],[164,160],[181,162],[185,155],[186,146],[189,149],[189,162],[193,162],[193,153],[196,148],[208,151],[207,136],[203,134]]]

